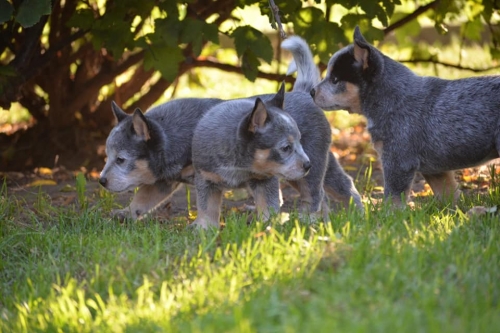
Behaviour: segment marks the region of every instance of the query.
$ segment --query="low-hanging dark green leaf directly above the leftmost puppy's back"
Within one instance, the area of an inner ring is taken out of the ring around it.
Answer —
[[[179,72],[179,63],[184,56],[179,47],[168,45],[150,45],[149,52],[144,55],[144,69],[154,68],[169,82],[176,79]]]

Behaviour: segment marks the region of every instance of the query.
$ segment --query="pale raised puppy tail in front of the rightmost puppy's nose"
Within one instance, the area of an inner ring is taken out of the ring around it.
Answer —
[[[292,53],[293,61],[288,66],[287,75],[297,71],[297,79],[293,91],[309,93],[321,81],[319,70],[314,63],[311,49],[307,42],[299,36],[290,36],[281,43],[281,47]]]

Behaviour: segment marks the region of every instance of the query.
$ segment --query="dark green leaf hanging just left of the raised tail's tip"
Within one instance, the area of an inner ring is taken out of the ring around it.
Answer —
[[[273,59],[273,47],[267,36],[251,26],[245,25],[236,28],[231,37],[239,57],[252,53],[270,63]],[[253,58],[250,63],[254,63]]]

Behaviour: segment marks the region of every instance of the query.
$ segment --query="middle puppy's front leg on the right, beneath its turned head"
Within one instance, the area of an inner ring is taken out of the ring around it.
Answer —
[[[280,210],[280,184],[277,177],[268,179],[252,179],[249,182],[255,200],[257,215],[264,221],[269,220],[271,214]]]

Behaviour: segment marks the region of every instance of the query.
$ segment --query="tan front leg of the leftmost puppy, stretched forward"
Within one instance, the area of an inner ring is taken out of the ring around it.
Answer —
[[[134,195],[130,205],[123,209],[114,210],[111,214],[120,220],[131,217],[134,220],[142,219],[152,213],[162,203],[169,200],[181,187],[181,183],[158,181],[152,185],[142,185]]]

